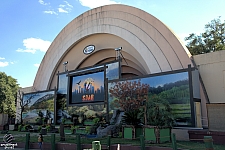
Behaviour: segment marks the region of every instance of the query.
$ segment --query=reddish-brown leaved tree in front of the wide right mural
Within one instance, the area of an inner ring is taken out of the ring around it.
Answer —
[[[139,124],[140,108],[147,100],[148,90],[149,84],[142,84],[140,80],[115,82],[109,89],[110,96],[116,98],[113,104],[125,112],[124,122],[132,125]],[[144,118],[146,123],[146,109]]]

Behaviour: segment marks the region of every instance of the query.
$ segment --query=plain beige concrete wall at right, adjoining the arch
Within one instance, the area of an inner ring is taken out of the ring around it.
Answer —
[[[225,51],[194,56],[209,103],[225,103]]]

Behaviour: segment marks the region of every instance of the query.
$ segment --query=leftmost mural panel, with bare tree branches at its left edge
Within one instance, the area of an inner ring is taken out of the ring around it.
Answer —
[[[23,101],[26,104],[22,113],[24,123],[41,124],[43,118],[54,123],[54,91],[24,94]]]

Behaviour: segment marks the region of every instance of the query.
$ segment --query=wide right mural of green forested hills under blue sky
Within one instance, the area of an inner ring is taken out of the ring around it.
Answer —
[[[172,115],[175,120],[174,126],[191,126],[191,106],[188,72],[175,74],[167,74],[154,77],[146,77],[131,82],[140,81],[142,84],[148,84],[148,96],[146,106],[150,106],[153,102],[169,104],[172,109]],[[119,81],[123,83],[124,81]],[[112,88],[118,82],[110,82],[108,89]],[[112,97],[109,92],[109,113],[118,109],[115,104],[116,98]],[[152,109],[147,109],[147,116],[154,113]]]

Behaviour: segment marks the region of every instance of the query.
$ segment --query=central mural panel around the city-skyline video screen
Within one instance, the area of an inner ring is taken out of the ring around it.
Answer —
[[[83,70],[79,70],[79,71],[74,71],[74,72],[70,72],[71,74],[73,73],[82,73],[84,71],[88,71],[88,70],[93,70],[93,69],[97,69],[97,68],[102,68],[104,67],[103,65],[97,66],[97,67],[90,67],[87,69],[83,69]],[[106,78],[108,80],[114,80],[114,79],[119,79],[119,62],[112,62],[109,64],[106,64]],[[77,93],[80,91],[89,91],[91,90],[91,88],[95,87],[95,84],[97,86],[97,82],[98,85],[101,85],[99,88],[99,92],[100,90],[104,90],[104,74],[103,72],[100,73],[96,73],[93,75],[87,75],[87,76],[76,76],[73,79],[73,85],[72,86],[74,89],[73,91],[76,89]],[[96,76],[98,78],[98,80],[94,81]],[[86,82],[85,82],[86,81]],[[79,85],[80,88],[79,88]],[[77,87],[76,87],[77,86]],[[90,102],[102,102],[105,100],[104,93],[102,93],[101,98],[97,98],[94,97],[95,99],[93,101],[84,101],[84,103],[82,103],[82,96],[79,97],[78,94],[74,93],[73,96],[73,101],[72,105],[67,105],[67,92],[68,92],[68,76],[67,73],[64,74],[59,74],[59,80],[58,80],[58,90],[57,90],[57,98],[56,98],[56,123],[60,124],[63,120],[66,120],[66,123],[70,123],[73,124],[73,116],[78,115],[79,118],[83,118],[83,120],[85,119],[91,119],[93,117],[96,116],[102,116],[105,117],[106,116],[106,107],[103,104],[89,104]],[[103,88],[103,89],[102,89]],[[88,89],[88,90],[87,90]],[[86,96],[85,96],[86,97]],[[89,97],[87,96],[87,99],[89,99]],[[91,97],[90,97],[91,100]],[[95,101],[96,100],[96,101]],[[77,105],[78,104],[78,105]],[[82,120],[82,119],[80,119]],[[81,121],[80,121],[81,122]]]

